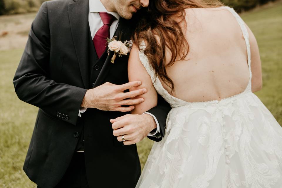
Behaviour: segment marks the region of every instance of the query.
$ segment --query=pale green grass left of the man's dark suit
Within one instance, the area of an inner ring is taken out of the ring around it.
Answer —
[[[34,187],[22,166],[37,108],[20,101],[12,83],[22,52],[23,49],[0,52],[0,187]]]

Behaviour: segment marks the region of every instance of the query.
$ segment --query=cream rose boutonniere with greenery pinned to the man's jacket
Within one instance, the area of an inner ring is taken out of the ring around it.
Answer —
[[[121,36],[121,35],[120,35]],[[131,47],[132,47],[132,40],[130,41],[117,41],[115,38],[117,36],[114,36],[113,38],[109,39],[107,38],[108,42],[108,55],[110,56],[109,51],[114,51],[114,55],[111,59],[111,63],[115,63],[115,58],[117,56],[127,55],[127,53],[130,53]]]

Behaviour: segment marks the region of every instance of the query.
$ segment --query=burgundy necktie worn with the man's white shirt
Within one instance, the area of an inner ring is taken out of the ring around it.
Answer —
[[[115,17],[113,15],[106,12],[99,12],[99,14],[104,25],[97,31],[93,38],[93,44],[95,46],[98,58],[100,58],[106,50],[106,38],[110,38],[110,26],[115,20]]]

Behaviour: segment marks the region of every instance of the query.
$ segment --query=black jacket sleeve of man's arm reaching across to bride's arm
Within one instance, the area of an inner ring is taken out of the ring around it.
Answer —
[[[86,89],[56,83],[49,78],[50,37],[45,2],[31,25],[28,41],[13,80],[15,91],[20,100],[41,108],[54,118],[76,125]],[[68,117],[57,117],[57,112]]]

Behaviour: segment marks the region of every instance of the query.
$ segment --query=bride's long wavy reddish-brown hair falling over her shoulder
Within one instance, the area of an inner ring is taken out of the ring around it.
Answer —
[[[150,0],[148,11],[141,15],[133,42],[139,46],[142,40],[146,41],[144,53],[149,63],[172,92],[174,84],[165,67],[172,66],[177,60],[184,60],[189,52],[188,41],[182,32],[183,26],[186,26],[185,9],[213,8],[222,5],[217,0]],[[171,53],[171,59],[167,64],[166,50]]]

